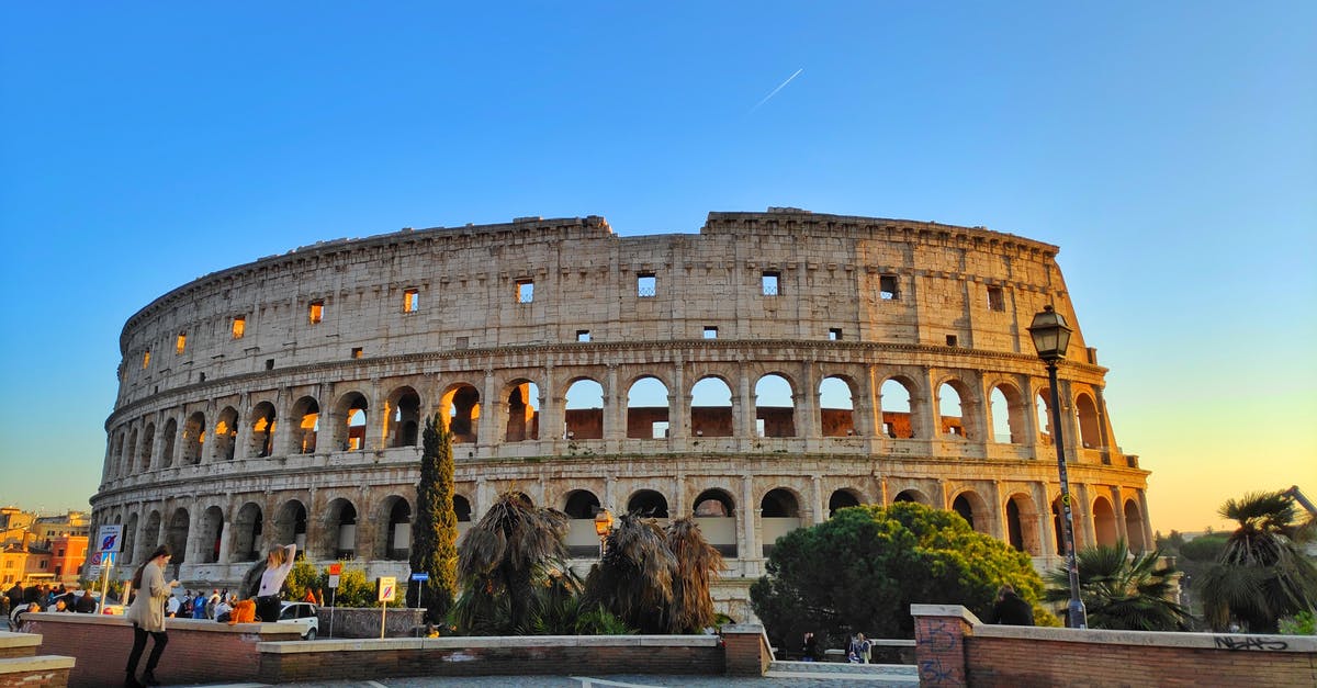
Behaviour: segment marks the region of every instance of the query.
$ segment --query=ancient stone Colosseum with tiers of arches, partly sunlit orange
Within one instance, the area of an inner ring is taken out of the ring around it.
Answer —
[[[694,514],[749,584],[784,532],[918,501],[1060,561],[1044,364],[1075,327],[1062,440],[1080,546],[1152,542],[1147,472],[1115,443],[1105,368],[1054,245],[936,223],[712,212],[699,233],[598,216],[323,241],[202,277],[124,326],[94,522],[120,576],[169,543],[184,584],[270,543],[406,579],[417,427],[454,434],[460,526],[506,490],[572,517]]]

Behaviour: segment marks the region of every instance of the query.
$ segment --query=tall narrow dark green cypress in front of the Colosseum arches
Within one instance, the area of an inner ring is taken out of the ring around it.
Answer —
[[[425,619],[443,623],[457,592],[457,514],[453,511],[453,442],[439,415],[425,419],[421,435],[416,522],[412,523],[412,572],[429,573],[424,585],[407,587],[407,604],[427,609]]]

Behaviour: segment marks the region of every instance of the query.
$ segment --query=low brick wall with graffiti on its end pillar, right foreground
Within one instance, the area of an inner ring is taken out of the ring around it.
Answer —
[[[1312,637],[989,626],[940,605],[911,613],[923,685],[1317,685]]]

